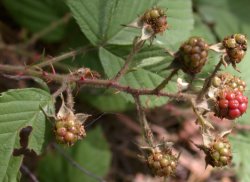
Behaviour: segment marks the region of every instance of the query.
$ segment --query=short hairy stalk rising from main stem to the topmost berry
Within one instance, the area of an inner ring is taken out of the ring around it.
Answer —
[[[113,78],[114,82],[119,81],[119,79],[126,74],[129,69],[130,63],[132,62],[134,55],[141,50],[145,43],[145,40],[140,40],[138,37],[134,39],[133,47],[120,71]]]

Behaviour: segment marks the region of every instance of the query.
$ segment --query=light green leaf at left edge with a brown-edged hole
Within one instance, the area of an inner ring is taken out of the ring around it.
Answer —
[[[41,108],[53,112],[54,105],[49,93],[40,89],[18,89],[0,96],[0,181],[17,181],[23,155],[14,156],[15,149],[33,150],[40,154],[45,145],[48,121]],[[19,133],[31,127],[27,146],[21,146]]]

